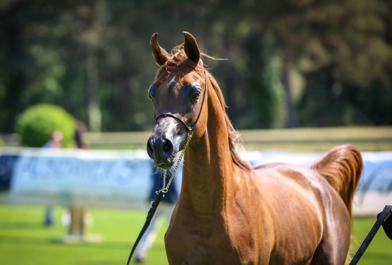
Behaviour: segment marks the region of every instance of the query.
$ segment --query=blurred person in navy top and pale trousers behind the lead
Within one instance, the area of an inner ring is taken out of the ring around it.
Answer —
[[[152,168],[152,172],[152,186],[148,198],[149,202],[155,199],[156,191],[162,189],[163,186],[163,178],[161,177],[160,172],[155,171],[155,168]],[[171,175],[172,173],[168,170],[165,185],[167,185],[167,182],[169,182]],[[174,177],[176,177],[176,175]],[[152,244],[154,243],[164,220],[166,219],[167,224],[169,224],[174,206],[178,200],[178,194],[178,189],[173,181],[169,187],[169,190],[167,193],[165,193],[165,196],[163,196],[158,208],[156,209],[150,226],[147,228],[145,234],[142,237],[142,240],[140,240],[139,247],[136,252],[136,263],[143,263],[147,260],[147,252],[152,247]]]

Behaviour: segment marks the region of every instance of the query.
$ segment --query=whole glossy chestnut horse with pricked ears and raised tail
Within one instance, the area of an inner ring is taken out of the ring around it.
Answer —
[[[160,66],[149,88],[156,124],[147,143],[154,164],[171,168],[187,147],[180,198],[165,234],[170,264],[344,264],[351,204],[363,167],[352,145],[310,168],[252,168],[195,38],[169,54],[152,35]],[[188,137],[192,135],[189,146]]]

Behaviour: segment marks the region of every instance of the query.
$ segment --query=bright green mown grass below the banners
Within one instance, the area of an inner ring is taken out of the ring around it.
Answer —
[[[91,209],[91,234],[101,234],[102,243],[59,243],[65,235],[60,224],[64,208],[55,207],[56,224],[44,227],[44,207],[0,206],[0,264],[2,265],[98,265],[126,263],[146,213],[127,209]],[[382,209],[380,209],[381,211]],[[375,222],[374,218],[354,219],[353,243],[356,251]],[[167,264],[162,227],[145,264]],[[299,239],[300,240],[300,239]],[[391,264],[392,242],[380,230],[358,264]]]

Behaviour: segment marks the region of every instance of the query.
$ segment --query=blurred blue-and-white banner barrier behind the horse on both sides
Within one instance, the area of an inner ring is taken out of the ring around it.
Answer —
[[[287,162],[310,166],[323,153],[252,151],[254,166]],[[362,152],[364,173],[354,215],[376,215],[392,204],[392,151]],[[0,149],[0,202],[145,209],[151,187],[151,160],[145,150],[94,151]],[[181,176],[182,167],[178,170]],[[181,177],[174,178],[181,185]]]

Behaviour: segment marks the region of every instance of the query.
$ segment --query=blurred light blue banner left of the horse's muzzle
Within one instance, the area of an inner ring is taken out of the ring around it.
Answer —
[[[151,175],[146,151],[0,150],[8,203],[145,209]]]

